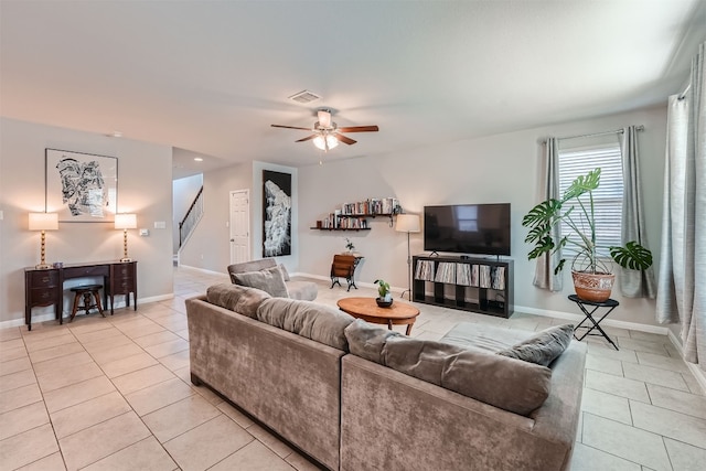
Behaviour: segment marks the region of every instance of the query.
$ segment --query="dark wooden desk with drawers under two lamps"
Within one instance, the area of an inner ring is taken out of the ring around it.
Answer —
[[[24,269],[24,323],[32,330],[32,308],[54,306],[58,323],[64,322],[64,281],[73,278],[103,277],[104,306],[110,298],[110,314],[116,295],[125,295],[130,307],[130,293],[137,311],[137,261],[98,261],[67,264],[60,268]]]

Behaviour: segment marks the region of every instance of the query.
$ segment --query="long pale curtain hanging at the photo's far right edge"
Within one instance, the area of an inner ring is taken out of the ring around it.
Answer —
[[[659,322],[680,322],[684,360],[706,370],[706,43],[684,99],[670,97]]]

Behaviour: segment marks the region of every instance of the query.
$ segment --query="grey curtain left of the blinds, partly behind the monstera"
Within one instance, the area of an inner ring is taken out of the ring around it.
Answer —
[[[559,199],[559,147],[556,138],[548,138],[545,143],[544,165],[541,182],[542,201],[550,197]],[[561,238],[559,224],[552,231],[554,240]],[[550,291],[561,291],[561,275],[554,275],[554,267],[561,259],[559,251],[555,254],[544,254],[537,258],[537,265],[534,272],[533,285],[537,288],[548,289]]]

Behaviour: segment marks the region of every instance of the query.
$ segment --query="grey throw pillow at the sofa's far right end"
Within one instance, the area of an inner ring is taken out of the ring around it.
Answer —
[[[537,365],[548,366],[559,356],[574,334],[574,325],[564,324],[553,327],[524,340],[510,349],[498,352],[499,355],[522,360]]]

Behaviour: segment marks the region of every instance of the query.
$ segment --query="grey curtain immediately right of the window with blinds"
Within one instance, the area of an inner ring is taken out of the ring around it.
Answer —
[[[638,129],[629,126],[620,135],[620,151],[622,153],[622,231],[621,242],[637,240],[638,244],[650,248],[648,232],[644,227],[644,207],[642,189],[640,185],[640,156],[638,152]],[[656,285],[652,267],[646,270],[630,270],[619,267],[620,290],[628,298],[654,299]]]

